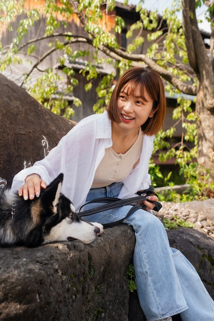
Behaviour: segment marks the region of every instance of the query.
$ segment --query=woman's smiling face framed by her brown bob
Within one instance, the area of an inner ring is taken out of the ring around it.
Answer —
[[[135,129],[143,125],[149,117],[153,117],[155,110],[152,110],[153,101],[146,90],[142,96],[140,85],[137,85],[134,91],[130,90],[130,86],[127,84],[120,91],[118,109],[121,115],[120,126]]]

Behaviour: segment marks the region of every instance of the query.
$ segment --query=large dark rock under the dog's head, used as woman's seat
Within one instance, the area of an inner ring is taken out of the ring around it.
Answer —
[[[134,244],[132,229],[120,226],[89,245],[1,249],[0,320],[128,321]]]

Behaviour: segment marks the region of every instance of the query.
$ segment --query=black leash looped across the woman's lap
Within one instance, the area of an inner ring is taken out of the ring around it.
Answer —
[[[126,206],[126,205],[132,205],[132,208],[128,211],[128,213],[126,214],[125,217],[123,217],[119,220],[116,220],[115,222],[112,222],[112,223],[103,224],[103,227],[105,229],[107,229],[109,227],[113,227],[113,226],[122,224],[124,219],[126,219],[128,216],[130,216],[133,212],[137,211],[138,209],[146,209],[146,206],[144,204],[142,204],[142,205],[136,204],[138,202],[141,202],[142,200],[147,200],[148,202],[153,203],[155,205],[153,210],[158,212],[162,208],[162,205],[159,202],[154,202],[152,200],[146,199],[146,197],[149,196],[151,193],[154,195],[157,195],[154,192],[154,189],[152,186],[150,186],[148,189],[144,190],[143,192],[138,192],[137,193],[138,196],[127,198],[127,199],[120,199],[120,198],[115,198],[115,197],[96,198],[96,199],[93,199],[90,202],[84,204],[83,206],[81,206],[80,211],[84,206],[86,206],[88,204],[92,204],[92,203],[106,203],[106,204],[86,210],[86,211],[83,211],[83,212],[79,212],[78,215],[80,217],[83,217],[83,216],[88,216],[88,215],[100,213],[105,210],[111,210],[111,209]]]

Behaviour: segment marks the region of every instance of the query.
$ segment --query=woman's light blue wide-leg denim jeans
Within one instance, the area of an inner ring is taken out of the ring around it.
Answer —
[[[91,189],[89,200],[118,197],[122,183]],[[90,204],[82,210],[101,206]],[[114,222],[126,215],[131,206],[85,216],[90,222]],[[197,271],[178,250],[170,248],[160,219],[139,209],[124,220],[133,227],[136,244],[133,253],[135,283],[141,308],[148,321],[180,313],[183,321],[213,321],[214,302]]]

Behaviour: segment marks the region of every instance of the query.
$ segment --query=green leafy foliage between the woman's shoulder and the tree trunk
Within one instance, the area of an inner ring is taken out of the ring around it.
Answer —
[[[206,198],[206,191],[213,190],[214,183],[210,182],[210,171],[197,162],[198,135],[196,122],[198,115],[192,110],[191,101],[178,97],[178,107],[173,110],[174,125],[167,131],[160,131],[154,140],[154,150],[160,149],[159,159],[165,162],[167,159],[174,157],[175,164],[180,167],[179,177],[183,175],[185,183],[190,185],[189,190],[180,195],[172,190],[168,195],[162,195],[162,200],[172,202],[188,202],[194,199],[203,200]],[[179,142],[169,145],[168,140],[176,131],[176,126],[182,123],[182,135]],[[162,152],[161,150],[166,150]],[[156,171],[159,170],[159,167]],[[165,186],[173,186],[175,183],[170,181],[171,172],[164,177]],[[161,177],[162,174],[157,175]],[[157,177],[156,176],[156,177]]]

